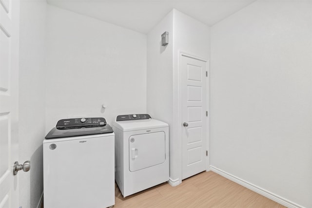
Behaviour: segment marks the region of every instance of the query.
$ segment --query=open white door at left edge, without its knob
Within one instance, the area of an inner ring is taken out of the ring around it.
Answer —
[[[0,208],[18,208],[18,0],[0,0]]]

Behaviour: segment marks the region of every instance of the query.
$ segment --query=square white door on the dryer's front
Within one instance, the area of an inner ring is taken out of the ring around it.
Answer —
[[[131,172],[165,162],[165,132],[144,133],[129,137]]]

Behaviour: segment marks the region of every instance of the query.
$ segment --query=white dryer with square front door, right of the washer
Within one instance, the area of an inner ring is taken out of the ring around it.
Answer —
[[[149,114],[118,115],[115,180],[123,197],[169,180],[169,125]]]

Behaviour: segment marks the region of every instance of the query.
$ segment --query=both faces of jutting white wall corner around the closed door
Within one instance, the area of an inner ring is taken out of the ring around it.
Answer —
[[[169,44],[161,46],[161,34]],[[147,35],[147,113],[169,123],[170,180],[181,183],[181,135],[178,120],[179,52],[209,59],[209,27],[172,10]]]

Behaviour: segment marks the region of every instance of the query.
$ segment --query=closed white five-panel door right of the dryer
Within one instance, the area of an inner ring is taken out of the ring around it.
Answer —
[[[207,62],[182,56],[182,180],[207,169]]]

